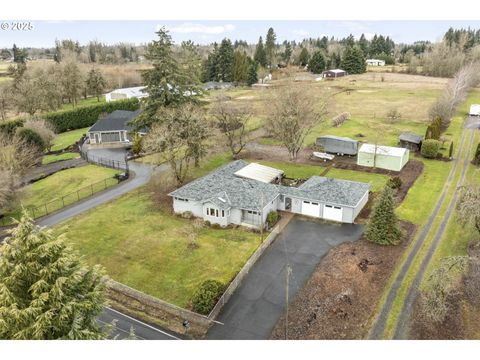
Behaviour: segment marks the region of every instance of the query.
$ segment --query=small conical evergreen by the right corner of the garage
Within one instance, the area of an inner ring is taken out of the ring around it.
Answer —
[[[395,245],[400,241],[393,190],[389,186],[385,186],[373,208],[365,235],[368,240],[379,245]]]

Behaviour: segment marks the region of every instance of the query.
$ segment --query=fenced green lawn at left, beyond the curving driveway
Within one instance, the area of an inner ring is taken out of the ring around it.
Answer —
[[[117,183],[113,175],[118,171],[96,165],[86,165],[79,168],[72,168],[59,171],[53,175],[28,185],[20,190],[20,205],[27,209],[36,208],[35,216],[46,215],[63,207],[72,204],[78,199],[90,196],[92,191],[98,192]],[[78,195],[77,195],[78,190]],[[63,198],[63,201],[61,198]],[[43,206],[45,203],[47,209]],[[40,207],[40,208],[38,208]],[[18,218],[21,213],[20,206],[7,214],[7,216]]]

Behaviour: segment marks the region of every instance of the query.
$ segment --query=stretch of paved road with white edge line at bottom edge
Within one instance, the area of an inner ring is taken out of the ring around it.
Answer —
[[[130,329],[133,329],[135,338],[138,340],[181,340],[183,336],[174,334],[168,330],[159,328],[134,319],[131,316],[122,314],[121,312],[105,308],[104,312],[98,318],[98,322],[102,325],[112,324],[115,320],[115,327],[112,331],[112,337],[117,339],[126,339],[130,335]]]

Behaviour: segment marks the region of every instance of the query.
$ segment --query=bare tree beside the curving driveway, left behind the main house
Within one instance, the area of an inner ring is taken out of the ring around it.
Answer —
[[[192,162],[197,164],[206,152],[209,127],[203,110],[192,104],[161,112],[144,141],[144,149],[160,152],[170,164],[177,185],[183,184]]]

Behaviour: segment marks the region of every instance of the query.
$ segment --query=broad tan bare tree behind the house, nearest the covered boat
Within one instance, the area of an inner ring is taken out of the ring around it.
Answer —
[[[327,114],[327,98],[316,97],[306,86],[290,83],[274,90],[267,119],[270,134],[297,159],[303,142],[313,127]]]

